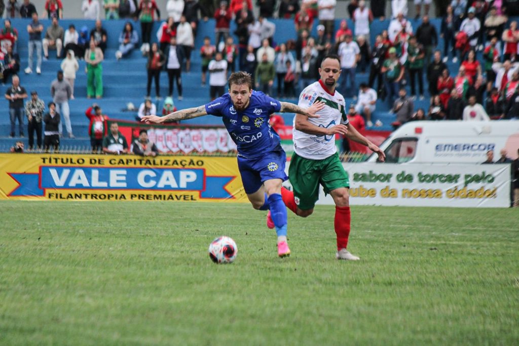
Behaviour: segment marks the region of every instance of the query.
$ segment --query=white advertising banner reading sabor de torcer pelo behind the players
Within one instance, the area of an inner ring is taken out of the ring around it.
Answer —
[[[352,205],[509,207],[510,164],[344,163]],[[318,204],[334,204],[320,189]]]

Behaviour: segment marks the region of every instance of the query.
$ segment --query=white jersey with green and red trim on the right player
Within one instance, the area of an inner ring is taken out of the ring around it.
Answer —
[[[323,128],[329,128],[340,123],[347,124],[344,97],[337,91],[332,95],[322,84],[321,80],[306,87],[299,95],[299,107],[308,108],[314,102],[322,101],[326,105],[317,114],[320,118],[308,118],[312,124]],[[297,155],[306,159],[322,160],[336,153],[335,135],[308,134],[295,129],[292,131],[294,151]]]

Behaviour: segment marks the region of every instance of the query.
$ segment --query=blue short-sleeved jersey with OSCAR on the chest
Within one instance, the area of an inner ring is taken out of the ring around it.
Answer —
[[[281,103],[261,91],[252,91],[249,106],[237,111],[230,94],[206,104],[207,114],[222,117],[225,127],[238,154],[247,158],[257,158],[269,151],[279,149],[279,135],[270,127],[270,114],[279,112]]]

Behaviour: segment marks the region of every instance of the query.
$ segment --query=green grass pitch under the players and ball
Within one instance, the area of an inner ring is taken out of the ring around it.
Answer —
[[[358,262],[333,215],[279,259],[246,204],[0,202],[0,344],[519,343],[519,210],[355,206]]]

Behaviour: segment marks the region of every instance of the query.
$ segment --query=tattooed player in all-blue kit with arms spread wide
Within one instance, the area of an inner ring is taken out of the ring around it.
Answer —
[[[281,183],[288,179],[286,155],[268,120],[275,112],[318,118],[316,113],[324,103],[316,102],[302,108],[272,99],[263,92],[252,90],[251,75],[245,72],[231,74],[228,82],[229,92],[206,105],[178,110],[165,117],[144,116],[142,120],[163,123],[208,114],[222,117],[238,149],[238,169],[245,193],[254,209],[270,210],[278,236],[278,256],[290,256],[286,242],[286,208],[281,199]]]

